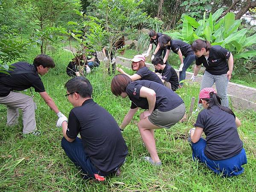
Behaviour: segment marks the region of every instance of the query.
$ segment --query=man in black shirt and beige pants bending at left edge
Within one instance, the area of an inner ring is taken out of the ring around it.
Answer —
[[[7,106],[7,125],[17,124],[19,109],[21,109],[23,114],[23,134],[37,130],[35,122],[36,105],[32,97],[17,92],[30,87],[34,87],[35,92],[39,92],[40,96],[57,113],[58,117],[64,116],[45,91],[44,84],[39,77],[39,75],[43,76],[47,73],[49,68],[55,67],[52,58],[48,55],[38,55],[32,65],[27,62],[17,62],[12,66],[14,68],[13,71],[9,71],[9,75],[0,73],[0,104]]]

